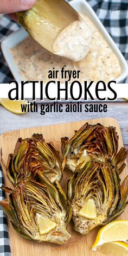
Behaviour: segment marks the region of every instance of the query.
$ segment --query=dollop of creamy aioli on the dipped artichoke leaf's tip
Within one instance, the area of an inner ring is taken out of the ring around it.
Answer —
[[[92,31],[80,17],[62,30],[53,43],[55,54],[72,61],[80,61],[88,54],[92,41]]]

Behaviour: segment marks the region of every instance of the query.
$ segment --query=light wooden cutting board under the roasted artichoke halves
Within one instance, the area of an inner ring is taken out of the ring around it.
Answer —
[[[17,131],[6,132],[0,137],[0,145],[3,151],[3,158],[7,163],[9,153],[14,151],[14,147],[18,138],[26,138],[33,135],[33,133],[43,133],[43,137],[46,142],[53,142],[57,149],[60,150],[60,138],[68,136],[71,138],[74,134],[74,130],[78,130],[85,122],[89,124],[101,123],[105,126],[116,126],[119,135],[119,148],[123,146],[121,138],[120,127],[117,121],[113,118],[101,118],[93,120],[77,121],[66,124],[56,124],[50,126],[39,126],[34,128],[28,128]],[[124,178],[127,173],[125,168],[121,178]],[[67,174],[64,174],[63,181],[67,180]],[[8,178],[4,175],[5,185],[10,187]],[[62,181],[62,182],[63,182]],[[123,215],[119,219],[128,220],[128,208],[125,210]],[[97,252],[91,251],[91,246],[95,240],[95,236],[98,232],[98,228],[95,228],[87,236],[81,235],[75,232],[73,229],[73,222],[68,226],[69,233],[72,234],[72,238],[68,240],[65,245],[55,245],[48,242],[42,242],[40,244],[36,242],[27,241],[16,234],[8,221],[9,237],[12,256],[102,256]]]

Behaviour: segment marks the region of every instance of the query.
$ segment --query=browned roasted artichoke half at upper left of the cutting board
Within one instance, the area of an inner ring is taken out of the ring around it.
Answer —
[[[14,153],[8,157],[7,167],[3,159],[1,163],[14,186],[26,176],[36,178],[45,175],[52,183],[62,178],[59,152],[52,143],[45,142],[42,134],[19,138]]]

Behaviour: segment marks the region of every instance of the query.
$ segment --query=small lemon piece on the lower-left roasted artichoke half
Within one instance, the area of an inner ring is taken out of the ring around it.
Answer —
[[[56,223],[50,220],[47,217],[40,215],[39,213],[36,214],[37,225],[39,227],[39,232],[41,235],[47,234],[48,232],[52,231],[56,227]]]

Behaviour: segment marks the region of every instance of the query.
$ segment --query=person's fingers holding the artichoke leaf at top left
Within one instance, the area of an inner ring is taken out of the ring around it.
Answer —
[[[36,0],[0,0],[0,14],[9,14],[9,17],[17,21],[15,12],[28,10]]]

